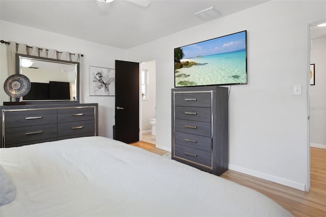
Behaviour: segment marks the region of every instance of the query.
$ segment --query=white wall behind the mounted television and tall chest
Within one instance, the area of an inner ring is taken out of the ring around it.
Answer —
[[[247,30],[248,85],[229,98],[230,169],[307,189],[308,23],[325,17],[325,1],[271,1],[127,50],[128,61],[156,60],[156,146],[171,149],[173,49]]]

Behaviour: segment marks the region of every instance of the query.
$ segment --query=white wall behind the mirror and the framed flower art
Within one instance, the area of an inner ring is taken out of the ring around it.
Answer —
[[[113,138],[112,126],[115,123],[115,97],[89,96],[89,66],[115,68],[115,60],[125,60],[125,50],[50,33],[27,26],[0,20],[0,35],[5,41],[25,43],[30,46],[45,47],[59,51],[83,53],[80,64],[80,102],[98,103],[99,105],[99,135]],[[0,52],[0,83],[4,84],[8,77],[6,61],[6,45],[1,44]],[[8,101],[9,97],[1,90],[0,103]]]

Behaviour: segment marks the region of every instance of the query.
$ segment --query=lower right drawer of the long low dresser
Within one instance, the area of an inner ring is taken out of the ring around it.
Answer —
[[[58,137],[94,131],[94,120],[58,123]]]

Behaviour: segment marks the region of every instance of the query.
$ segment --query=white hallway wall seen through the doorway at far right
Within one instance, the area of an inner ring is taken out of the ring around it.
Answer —
[[[315,64],[315,85],[310,86],[310,144],[326,148],[326,38],[312,41],[310,62]]]

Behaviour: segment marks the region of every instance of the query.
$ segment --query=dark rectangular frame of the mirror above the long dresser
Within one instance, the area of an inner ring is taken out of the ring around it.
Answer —
[[[37,57],[37,56],[31,56],[31,55],[23,55],[20,53],[16,53],[16,74],[21,74],[20,70],[20,57],[23,58],[29,58],[34,60],[41,60],[46,62],[52,62],[52,63],[64,63],[64,64],[72,64],[76,66],[76,100],[22,100],[22,97],[16,98],[16,101],[18,102],[25,102],[26,104],[54,104],[54,103],[79,103],[79,63],[78,62],[72,62],[72,61],[65,61],[65,60],[57,60],[57,59],[50,59],[50,58],[44,58],[44,57]]]

